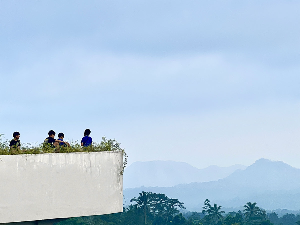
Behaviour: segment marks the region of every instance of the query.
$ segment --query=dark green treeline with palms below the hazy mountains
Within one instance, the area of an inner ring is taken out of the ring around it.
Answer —
[[[131,199],[123,213],[70,218],[57,225],[300,225],[300,215],[266,213],[255,202],[244,205],[243,211],[226,213],[222,206],[206,199],[202,212],[186,212],[184,203],[165,194],[142,192]]]

